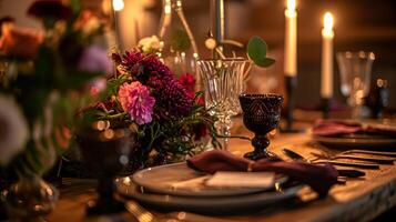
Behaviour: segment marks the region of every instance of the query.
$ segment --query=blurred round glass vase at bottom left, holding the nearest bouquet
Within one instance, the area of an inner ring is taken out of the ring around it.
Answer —
[[[1,193],[11,221],[44,221],[42,216],[53,210],[58,196],[58,190],[38,174],[20,176]]]

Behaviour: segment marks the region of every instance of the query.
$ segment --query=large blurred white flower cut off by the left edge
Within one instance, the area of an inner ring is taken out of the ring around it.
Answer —
[[[21,152],[28,141],[28,123],[16,101],[0,94],[0,165]]]

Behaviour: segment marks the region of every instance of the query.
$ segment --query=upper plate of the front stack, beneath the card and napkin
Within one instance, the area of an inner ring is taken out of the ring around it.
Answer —
[[[274,186],[263,188],[210,188],[206,185],[193,185],[175,188],[173,184],[205,176],[205,173],[195,171],[185,162],[160,165],[138,171],[130,179],[148,192],[184,196],[224,196],[255,193],[271,190]],[[286,176],[276,176],[274,183],[286,181]]]

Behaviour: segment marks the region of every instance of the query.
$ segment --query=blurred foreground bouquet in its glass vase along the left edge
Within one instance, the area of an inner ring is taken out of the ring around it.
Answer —
[[[78,0],[37,0],[28,14],[43,30],[16,27],[8,18],[0,38],[0,165],[20,180],[2,198],[19,216],[53,208],[57,192],[41,175],[68,148],[75,112],[93,98],[90,84],[111,70],[93,41],[103,26]]]

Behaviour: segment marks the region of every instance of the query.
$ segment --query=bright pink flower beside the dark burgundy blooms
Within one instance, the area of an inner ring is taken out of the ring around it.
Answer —
[[[145,124],[152,121],[155,99],[150,95],[149,89],[142,83],[135,81],[130,84],[122,84],[119,90],[119,100],[122,109],[138,124]]]

